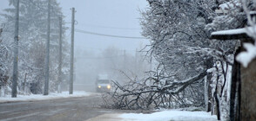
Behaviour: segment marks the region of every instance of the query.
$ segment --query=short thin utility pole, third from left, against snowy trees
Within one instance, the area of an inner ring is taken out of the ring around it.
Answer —
[[[57,92],[61,92],[61,83],[62,83],[62,17],[59,17],[59,48],[58,48],[58,86]]]

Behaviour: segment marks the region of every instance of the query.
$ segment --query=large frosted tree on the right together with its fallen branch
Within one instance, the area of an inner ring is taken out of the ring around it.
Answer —
[[[149,54],[158,60],[159,66],[141,83],[117,84],[119,91],[112,94],[112,99],[118,105],[113,106],[129,109],[135,105],[136,108],[208,105],[207,111],[215,114],[226,110],[219,105],[223,103],[221,99],[228,99],[227,78],[238,42],[212,41],[210,34],[218,29],[242,26],[245,17],[236,18],[239,13],[232,16],[236,12],[225,16],[215,13],[219,5],[227,3],[223,0],[148,2],[150,7],[142,12],[142,34],[151,40]],[[203,80],[206,80],[205,89]],[[204,94],[208,97],[206,101]]]

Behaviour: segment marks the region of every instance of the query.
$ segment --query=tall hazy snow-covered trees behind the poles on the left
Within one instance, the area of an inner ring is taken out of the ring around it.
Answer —
[[[10,0],[10,5],[16,1]],[[30,82],[31,90],[42,92],[44,84],[44,53],[46,42],[46,25],[47,25],[47,3],[45,0],[22,0],[20,2],[20,28],[19,28],[19,60],[18,84],[21,88],[24,81]],[[5,18],[3,23],[6,28],[3,31],[9,32],[5,36],[13,38],[14,31],[14,11],[15,9],[5,9],[1,14]],[[50,60],[50,90],[57,88],[57,66],[58,61],[58,31],[59,16],[63,16],[59,3],[56,0],[51,1],[51,60]],[[64,25],[64,24],[63,24]],[[65,30],[63,30],[64,35]],[[8,40],[12,41],[12,40]],[[64,46],[67,47],[67,41]],[[67,49],[64,49],[64,58],[67,56]],[[54,58],[53,58],[54,57]],[[67,67],[64,65],[64,67]],[[35,88],[33,88],[35,87]],[[33,88],[33,89],[32,89]]]

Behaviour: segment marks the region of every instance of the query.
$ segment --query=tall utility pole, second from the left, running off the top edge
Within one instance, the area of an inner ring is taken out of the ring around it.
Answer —
[[[51,27],[51,0],[48,0],[48,24],[47,24],[47,42],[46,42],[46,56],[45,56],[45,81],[44,81],[44,95],[49,93],[49,58],[50,58],[50,27]]]

